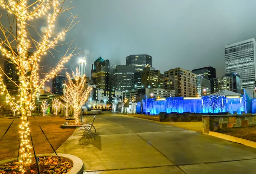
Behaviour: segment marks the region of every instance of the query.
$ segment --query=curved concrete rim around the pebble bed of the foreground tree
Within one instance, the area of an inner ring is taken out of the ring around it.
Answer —
[[[36,157],[44,157],[44,156],[52,156],[56,157],[56,154],[37,154]],[[64,159],[70,160],[73,163],[73,167],[70,171],[68,171],[66,174],[82,174],[83,173],[83,161],[74,155],[70,154],[58,154],[58,157],[62,157]],[[0,161],[0,164],[6,163],[6,162],[14,162],[14,159],[6,159],[3,161]]]

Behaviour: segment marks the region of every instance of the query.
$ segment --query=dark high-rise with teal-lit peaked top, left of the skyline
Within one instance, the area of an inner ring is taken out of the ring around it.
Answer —
[[[92,64],[92,80],[96,88],[110,89],[110,68],[109,60],[104,60],[99,56]]]

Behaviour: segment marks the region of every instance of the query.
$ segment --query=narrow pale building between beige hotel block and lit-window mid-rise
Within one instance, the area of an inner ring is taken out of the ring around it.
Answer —
[[[211,83],[207,78],[202,75],[197,75],[197,92],[198,96],[209,96],[211,94]]]

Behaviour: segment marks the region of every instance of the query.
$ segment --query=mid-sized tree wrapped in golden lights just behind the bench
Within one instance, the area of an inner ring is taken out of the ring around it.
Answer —
[[[61,99],[69,103],[74,109],[74,118],[76,119],[76,125],[79,125],[80,109],[87,101],[92,87],[87,87],[85,74],[80,76],[78,68],[76,68],[76,74],[72,72],[73,79],[67,73],[68,84],[66,92]]]

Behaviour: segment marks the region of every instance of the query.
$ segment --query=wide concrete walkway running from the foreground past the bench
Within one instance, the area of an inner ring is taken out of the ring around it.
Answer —
[[[57,151],[81,158],[85,174],[256,173],[256,149],[244,145],[120,114],[94,125],[96,140],[76,129]]]

